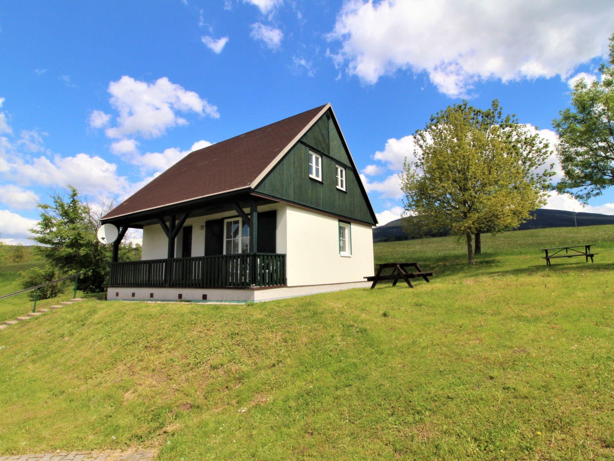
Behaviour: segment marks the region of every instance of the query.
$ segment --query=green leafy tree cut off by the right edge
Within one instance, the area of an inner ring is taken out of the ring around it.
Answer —
[[[571,94],[573,107],[553,121],[565,173],[556,188],[582,202],[614,184],[614,34],[609,47],[610,65],[600,66],[601,81],[589,85],[580,79]]]

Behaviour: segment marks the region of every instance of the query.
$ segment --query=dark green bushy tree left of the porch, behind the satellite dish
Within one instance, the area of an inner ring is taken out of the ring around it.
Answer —
[[[37,226],[30,229],[32,240],[40,243],[37,251],[55,269],[66,274],[85,272],[79,277],[79,288],[86,293],[103,291],[109,276],[112,245],[98,242],[96,231],[100,216],[114,207],[113,200],[88,203],[77,189],[53,192],[51,204],[39,203]],[[120,245],[120,261],[130,259],[130,243]]]

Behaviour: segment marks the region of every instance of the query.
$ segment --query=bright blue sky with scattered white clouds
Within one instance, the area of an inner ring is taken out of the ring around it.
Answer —
[[[0,6],[0,233],[54,187],[126,197],[190,149],[331,102],[383,222],[430,114],[469,98],[538,127],[598,77],[614,4],[160,0]],[[554,157],[553,157],[554,159]],[[548,207],[578,210],[569,197]],[[614,189],[585,211],[614,214]]]

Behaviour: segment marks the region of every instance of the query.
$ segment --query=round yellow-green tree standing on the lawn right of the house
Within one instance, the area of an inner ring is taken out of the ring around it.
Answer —
[[[418,216],[419,225],[407,230],[465,236],[470,264],[473,234],[517,227],[545,203],[554,174],[545,165],[548,144],[504,116],[497,100],[488,110],[467,101],[449,106],[414,139],[416,161],[405,162],[401,183],[405,215]]]

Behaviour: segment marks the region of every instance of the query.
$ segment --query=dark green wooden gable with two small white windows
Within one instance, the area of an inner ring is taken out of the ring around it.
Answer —
[[[255,191],[375,225],[375,213],[333,117],[328,111],[317,120]],[[322,156],[322,182],[309,178],[310,150]],[[336,187],[336,165],[346,169],[345,192]]]

